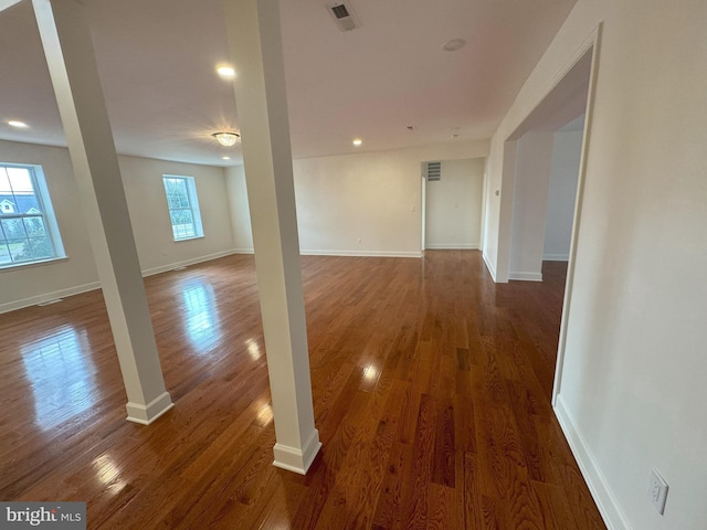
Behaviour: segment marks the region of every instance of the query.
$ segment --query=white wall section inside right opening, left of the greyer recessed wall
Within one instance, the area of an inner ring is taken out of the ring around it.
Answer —
[[[530,130],[516,141],[509,279],[542,280],[552,132]]]

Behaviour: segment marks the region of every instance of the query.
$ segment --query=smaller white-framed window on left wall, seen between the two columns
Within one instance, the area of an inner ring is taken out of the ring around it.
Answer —
[[[193,177],[165,174],[165,193],[175,241],[203,237]]]

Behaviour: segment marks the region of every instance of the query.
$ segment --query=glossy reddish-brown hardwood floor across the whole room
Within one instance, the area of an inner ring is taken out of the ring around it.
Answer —
[[[303,257],[316,425],[275,443],[252,256],[146,279],[175,407],[125,421],[99,292],[0,315],[0,500],[89,529],[603,529],[550,406],[564,283],[475,251]]]

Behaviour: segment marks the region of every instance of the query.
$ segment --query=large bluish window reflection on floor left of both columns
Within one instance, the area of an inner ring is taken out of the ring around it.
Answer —
[[[22,346],[21,354],[41,428],[50,430],[94,404],[95,367],[85,330],[62,326]]]

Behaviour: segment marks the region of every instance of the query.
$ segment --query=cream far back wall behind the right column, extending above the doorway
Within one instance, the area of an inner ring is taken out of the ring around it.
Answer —
[[[303,254],[420,256],[422,181],[425,160],[481,158],[487,141],[451,141],[440,146],[362,152],[294,161],[299,246]],[[249,243],[243,215],[244,177],[229,170],[232,204]],[[245,223],[247,222],[247,227]],[[360,240],[360,243],[359,243]]]

